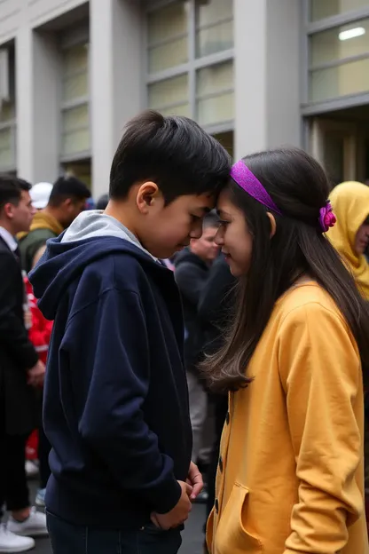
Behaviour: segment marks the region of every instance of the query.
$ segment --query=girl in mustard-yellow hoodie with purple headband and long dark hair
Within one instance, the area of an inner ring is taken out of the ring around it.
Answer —
[[[236,163],[219,198],[216,241],[240,297],[226,345],[206,362],[213,389],[230,391],[212,554],[369,551],[369,315],[326,240],[328,194],[318,162],[279,149]]]

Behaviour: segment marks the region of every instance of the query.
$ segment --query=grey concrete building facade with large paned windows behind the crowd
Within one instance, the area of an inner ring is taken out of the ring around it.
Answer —
[[[303,146],[368,178],[368,36],[369,0],[0,0],[0,171],[103,194],[152,107],[235,158]]]

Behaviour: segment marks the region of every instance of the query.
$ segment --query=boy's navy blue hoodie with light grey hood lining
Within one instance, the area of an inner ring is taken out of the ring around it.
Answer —
[[[192,450],[173,274],[114,218],[81,214],[30,275],[54,320],[43,423],[47,509],[139,527],[177,503]]]

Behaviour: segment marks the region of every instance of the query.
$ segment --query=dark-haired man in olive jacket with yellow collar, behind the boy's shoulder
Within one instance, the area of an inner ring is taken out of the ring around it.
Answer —
[[[48,239],[59,236],[85,209],[90,198],[89,188],[75,177],[59,177],[52,187],[49,202],[37,211],[29,233],[22,233],[20,257],[23,269],[29,273],[36,252]]]

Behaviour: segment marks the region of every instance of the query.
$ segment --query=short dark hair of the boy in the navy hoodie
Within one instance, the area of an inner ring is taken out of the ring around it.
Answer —
[[[159,186],[167,204],[185,194],[218,194],[230,167],[224,147],[197,123],[148,110],[127,124],[114,155],[110,196],[125,199],[145,180]]]

